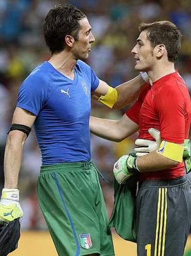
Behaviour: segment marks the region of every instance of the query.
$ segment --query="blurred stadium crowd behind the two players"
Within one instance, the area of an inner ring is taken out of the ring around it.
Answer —
[[[0,0],[0,186],[4,184],[3,157],[16,97],[21,82],[32,69],[50,55],[42,34],[42,24],[55,4],[71,3],[88,16],[96,42],[86,61],[97,76],[116,85],[137,75],[131,55],[141,22],[170,20],[182,32],[182,47],[176,69],[191,91],[191,5],[188,0]],[[129,106],[128,106],[129,107]],[[124,110],[111,111],[92,102],[92,115],[119,119]],[[176,124],[175,124],[176,125]],[[137,134],[122,143],[91,137],[92,159],[109,183],[100,180],[108,215],[113,208],[113,163],[133,150]],[[47,229],[36,199],[36,180],[41,156],[34,133],[24,149],[19,177],[23,229]]]

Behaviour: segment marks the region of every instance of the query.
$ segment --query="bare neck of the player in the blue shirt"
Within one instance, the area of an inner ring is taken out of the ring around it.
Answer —
[[[64,76],[74,79],[74,66],[77,60],[72,58],[71,53],[62,51],[58,54],[53,54],[49,63]]]

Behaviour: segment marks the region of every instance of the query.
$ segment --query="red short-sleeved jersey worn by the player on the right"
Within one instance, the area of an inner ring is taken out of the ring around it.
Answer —
[[[184,143],[189,137],[191,104],[189,90],[176,71],[145,87],[126,115],[139,125],[139,138],[153,140],[151,127],[161,132],[161,140]],[[175,179],[184,175],[184,163],[155,172],[143,172],[140,180]]]

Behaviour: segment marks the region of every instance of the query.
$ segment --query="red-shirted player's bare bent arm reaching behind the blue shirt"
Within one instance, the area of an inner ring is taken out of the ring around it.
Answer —
[[[90,117],[89,127],[92,133],[111,141],[122,141],[138,130],[136,123],[127,115],[119,121]]]

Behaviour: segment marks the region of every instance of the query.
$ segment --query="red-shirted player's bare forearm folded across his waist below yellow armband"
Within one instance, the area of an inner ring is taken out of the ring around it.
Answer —
[[[138,157],[136,165],[141,172],[151,172],[172,168],[178,165],[178,162],[170,160],[167,157],[158,154],[158,152],[153,151],[144,157]]]

